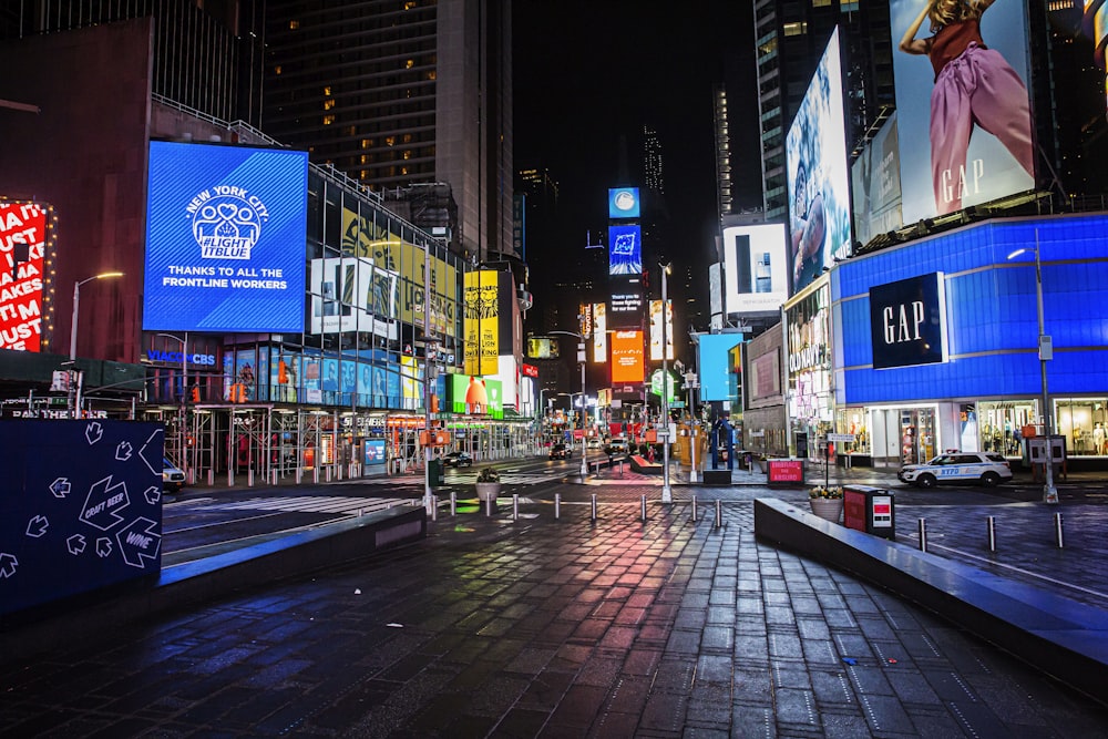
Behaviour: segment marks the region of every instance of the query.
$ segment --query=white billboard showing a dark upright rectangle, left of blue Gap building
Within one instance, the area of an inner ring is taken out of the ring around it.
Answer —
[[[724,294],[729,314],[774,314],[789,297],[783,224],[724,229]]]

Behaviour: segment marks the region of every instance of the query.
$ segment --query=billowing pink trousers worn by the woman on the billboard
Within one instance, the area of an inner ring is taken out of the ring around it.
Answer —
[[[974,124],[996,136],[1034,179],[1027,88],[1001,52],[976,43],[943,68],[931,92],[931,172],[938,215],[960,211],[963,187],[973,192],[976,179],[987,176],[976,163],[966,170]]]

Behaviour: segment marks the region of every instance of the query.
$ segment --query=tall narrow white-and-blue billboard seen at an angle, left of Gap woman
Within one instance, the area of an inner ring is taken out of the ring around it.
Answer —
[[[850,182],[839,29],[831,33],[784,142],[789,271],[798,292],[851,253]]]

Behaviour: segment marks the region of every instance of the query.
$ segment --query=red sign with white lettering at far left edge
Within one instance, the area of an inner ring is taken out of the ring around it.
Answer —
[[[0,349],[42,348],[45,243],[44,206],[0,203]]]

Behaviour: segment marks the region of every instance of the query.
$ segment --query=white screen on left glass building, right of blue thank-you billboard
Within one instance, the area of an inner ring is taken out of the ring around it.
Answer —
[[[311,260],[311,333],[359,331],[396,339],[397,274],[369,259]]]

